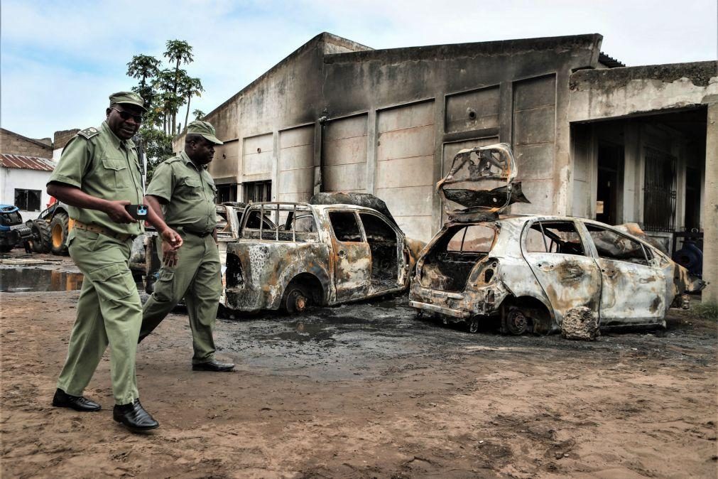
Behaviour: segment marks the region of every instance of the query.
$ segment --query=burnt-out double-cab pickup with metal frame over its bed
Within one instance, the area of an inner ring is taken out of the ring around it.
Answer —
[[[405,291],[419,248],[388,211],[313,204],[332,198],[248,205],[239,238],[227,244],[223,305],[299,313]]]

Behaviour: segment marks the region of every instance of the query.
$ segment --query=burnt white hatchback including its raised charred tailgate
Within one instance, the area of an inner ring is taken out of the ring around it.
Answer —
[[[412,307],[466,322],[472,332],[492,319],[514,335],[556,332],[577,307],[589,308],[600,327],[665,327],[671,304],[701,289],[683,266],[625,228],[501,215],[528,201],[515,177],[506,144],[457,154],[438,184],[448,221],[417,260]]]

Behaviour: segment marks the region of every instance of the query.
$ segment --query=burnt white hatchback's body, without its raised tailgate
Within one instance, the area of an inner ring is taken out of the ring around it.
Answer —
[[[495,231],[483,247],[451,247],[467,228]],[[442,277],[442,269],[451,276]],[[466,270],[470,270],[465,272]],[[418,310],[465,321],[500,317],[504,332],[555,332],[573,308],[602,327],[662,325],[674,300],[701,284],[658,248],[580,218],[504,216],[448,223],[424,248],[409,294]]]

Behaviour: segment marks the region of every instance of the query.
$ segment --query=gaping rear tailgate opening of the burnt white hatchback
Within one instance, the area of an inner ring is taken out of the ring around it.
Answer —
[[[420,283],[442,291],[462,291],[474,266],[488,256],[496,231],[487,225],[455,225],[424,257]]]

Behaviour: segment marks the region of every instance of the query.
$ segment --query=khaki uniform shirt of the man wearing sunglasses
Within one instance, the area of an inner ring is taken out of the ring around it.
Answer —
[[[48,184],[51,182],[78,187],[103,200],[127,200],[133,205],[144,203],[141,169],[134,143],[119,139],[106,121],[100,128],[80,131],[67,143]],[[101,225],[116,233],[139,235],[144,231],[141,221],[121,224],[102,211],[75,206],[70,206],[69,210],[70,218]]]

